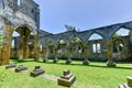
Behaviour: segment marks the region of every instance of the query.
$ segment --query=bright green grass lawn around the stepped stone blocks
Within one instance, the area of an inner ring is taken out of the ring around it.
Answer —
[[[18,62],[28,66],[28,73],[14,73],[12,69],[4,69],[0,66],[0,88],[64,88],[58,86],[56,81],[42,78],[30,77],[29,74],[34,69],[35,65],[40,65],[45,73],[59,77],[64,69],[70,72],[77,77],[72,88],[117,88],[119,84],[127,82],[127,77],[132,76],[132,64],[117,64],[117,67],[107,67],[106,63],[90,63],[84,66],[81,62],[73,62],[66,65],[65,61],[53,64],[42,62]]]

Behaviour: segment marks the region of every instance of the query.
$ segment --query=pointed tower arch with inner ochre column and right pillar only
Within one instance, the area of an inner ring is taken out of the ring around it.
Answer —
[[[19,51],[19,58],[28,58],[30,56],[30,35],[31,33],[33,36],[33,47],[34,47],[34,58],[37,58],[36,52],[38,52],[37,48],[37,33],[34,29],[32,29],[32,26],[30,26],[29,24],[20,24],[18,26],[14,28],[15,32],[18,32],[20,34],[20,36],[22,37],[22,43],[21,43],[21,47]],[[12,32],[13,33],[13,32]],[[12,37],[12,35],[11,35]]]

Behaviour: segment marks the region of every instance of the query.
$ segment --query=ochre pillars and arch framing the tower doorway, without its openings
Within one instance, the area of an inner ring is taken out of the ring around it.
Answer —
[[[30,56],[30,50],[29,50],[29,37],[32,33],[32,28],[28,24],[22,24],[19,28],[14,29],[10,25],[4,25],[4,35],[3,35],[3,44],[1,50],[1,56],[0,56],[0,65],[7,65],[10,63],[10,56],[11,56],[11,42],[12,42],[12,34],[13,32],[18,32],[22,38],[22,43],[19,46],[19,58],[28,58]],[[34,45],[34,59],[37,61],[38,58],[38,50],[37,50],[37,33],[34,32],[32,34],[33,36],[33,45]]]

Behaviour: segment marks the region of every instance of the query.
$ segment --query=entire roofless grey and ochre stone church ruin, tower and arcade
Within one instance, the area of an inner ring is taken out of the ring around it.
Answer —
[[[82,32],[68,31],[58,34],[40,30],[40,9],[33,0],[0,0],[0,63],[8,64],[10,58],[42,58],[44,62],[53,58],[80,59],[82,64],[89,61],[106,61],[108,65],[116,65],[113,61],[131,61],[132,57],[132,22],[112,24]],[[121,29],[130,30],[129,35],[113,37]],[[13,37],[16,31],[20,36]],[[100,40],[89,40],[94,34]],[[12,47],[12,41],[14,46]]]

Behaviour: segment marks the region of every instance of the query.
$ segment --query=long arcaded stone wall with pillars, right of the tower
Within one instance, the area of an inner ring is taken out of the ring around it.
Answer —
[[[113,37],[120,29],[130,30],[129,35]],[[53,58],[54,62],[65,58],[66,63],[70,63],[72,59],[84,59],[84,64],[88,64],[88,61],[108,61],[108,65],[116,65],[113,61],[132,61],[131,31],[132,22],[124,22],[81,32],[72,30],[45,35],[41,32],[38,37],[41,57],[44,62],[48,58]],[[102,38],[89,40],[95,33]]]

